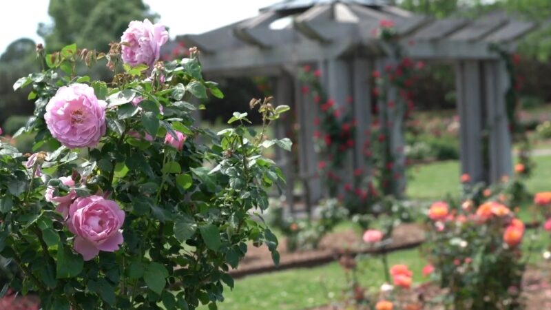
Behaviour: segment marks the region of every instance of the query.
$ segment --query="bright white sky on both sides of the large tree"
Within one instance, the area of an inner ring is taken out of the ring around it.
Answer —
[[[179,34],[198,34],[219,28],[258,14],[258,9],[278,0],[144,0],[153,12],[160,15],[160,23],[170,28],[170,37]],[[48,0],[10,1],[4,6],[0,19],[0,54],[19,38],[27,37],[37,43],[43,40],[37,34],[39,23],[51,23]],[[31,10],[29,8],[32,7]],[[191,12],[191,13],[190,13]],[[9,30],[9,31],[6,31]]]

